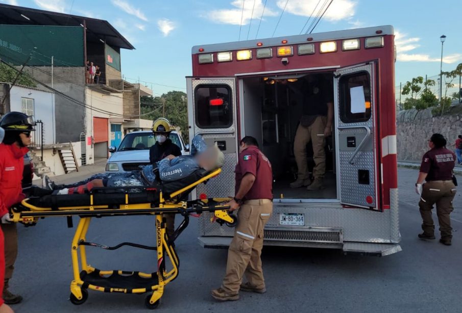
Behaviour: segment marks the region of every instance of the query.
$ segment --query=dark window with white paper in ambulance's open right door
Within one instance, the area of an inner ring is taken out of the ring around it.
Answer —
[[[371,76],[366,71],[340,78],[340,118],[344,123],[369,121],[372,114]]]

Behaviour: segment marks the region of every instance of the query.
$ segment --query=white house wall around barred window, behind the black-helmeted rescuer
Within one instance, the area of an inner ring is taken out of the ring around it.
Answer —
[[[43,122],[44,145],[56,142],[55,127],[55,94],[48,91],[36,90],[21,86],[13,86],[10,91],[11,111],[22,111],[21,98],[34,99],[34,117]]]

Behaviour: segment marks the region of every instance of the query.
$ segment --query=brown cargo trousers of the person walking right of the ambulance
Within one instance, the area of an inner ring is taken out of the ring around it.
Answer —
[[[436,215],[440,224],[442,238],[452,238],[451,219],[449,214],[454,209],[456,188],[452,180],[429,181],[423,185],[422,196],[419,202],[420,214],[422,215],[422,229],[425,234],[433,235],[435,226],[431,218],[431,209],[436,204]]]

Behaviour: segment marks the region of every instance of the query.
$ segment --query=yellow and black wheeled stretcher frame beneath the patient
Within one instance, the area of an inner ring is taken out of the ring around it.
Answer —
[[[232,214],[228,213],[229,206],[224,203],[229,201],[229,198],[213,198],[213,199],[202,199],[194,201],[179,201],[177,197],[184,195],[185,192],[192,190],[200,183],[208,181],[210,178],[220,174],[221,169],[211,172],[205,177],[198,181],[180,189],[172,194],[168,195],[168,199],[165,199],[163,192],[159,191],[159,204],[154,205],[153,203],[141,203],[141,204],[129,204],[128,203],[128,192],[126,191],[125,204],[120,204],[118,208],[109,208],[104,205],[93,206],[94,195],[90,193],[90,205],[89,206],[74,206],[74,207],[62,207],[58,209],[37,207],[28,203],[29,199],[25,199],[19,206],[13,207],[11,210],[12,221],[17,223],[25,224],[26,226],[33,226],[38,222],[40,218],[46,218],[50,216],[67,216],[68,218],[74,215],[80,216],[80,221],[77,226],[74,238],[71,244],[71,260],[72,260],[72,272],[74,279],[70,283],[70,301],[73,304],[83,304],[88,298],[88,289],[107,292],[107,293],[124,293],[124,294],[143,294],[150,292],[151,294],[145,300],[145,304],[148,308],[154,309],[159,303],[164,292],[164,287],[169,282],[173,281],[178,276],[179,269],[179,258],[175,251],[173,243],[175,239],[181,234],[181,232],[188,226],[189,215],[191,213],[212,212],[213,217],[211,220],[217,221],[221,225],[224,223],[233,227],[237,224],[237,218]],[[130,187],[137,188],[140,187]],[[149,188],[144,188],[150,190]],[[154,190],[152,190],[154,191]],[[157,190],[155,191],[157,192]],[[156,201],[157,202],[157,201]],[[154,206],[154,207],[153,207]],[[176,229],[174,238],[168,238],[166,234],[166,225],[164,214],[181,214],[184,218],[180,226]],[[155,226],[156,226],[156,247],[142,246],[132,243],[123,243],[116,247],[107,247],[96,243],[86,242],[86,234],[88,232],[91,219],[93,217],[103,216],[130,216],[130,215],[154,215]],[[157,273],[142,273],[142,272],[128,272],[128,271],[101,271],[92,266],[87,261],[87,254],[85,246],[94,246],[108,250],[115,250],[121,246],[133,246],[143,249],[151,249],[157,251]],[[165,258],[172,264],[172,269],[167,270],[165,267]],[[111,287],[111,286],[99,286],[96,284],[85,281],[82,277],[87,275],[101,276],[102,278],[109,278],[113,275],[143,279],[153,279],[156,281],[155,284],[149,287],[139,288],[124,288],[124,287]],[[135,275],[139,276],[136,277]],[[157,280],[153,275],[157,275]]]

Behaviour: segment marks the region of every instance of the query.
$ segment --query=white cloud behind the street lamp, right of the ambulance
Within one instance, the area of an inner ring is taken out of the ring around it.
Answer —
[[[407,53],[420,47],[419,37],[409,37],[395,31],[396,59],[402,62],[441,62],[441,57],[430,57],[428,54]],[[443,63],[455,63],[462,59],[462,54],[454,53],[443,56]]]

